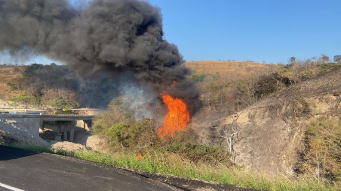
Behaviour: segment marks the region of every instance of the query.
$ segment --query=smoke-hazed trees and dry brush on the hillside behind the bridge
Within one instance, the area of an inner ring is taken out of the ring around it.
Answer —
[[[116,79],[99,75],[82,78],[65,65],[0,65],[0,101],[13,97],[34,97],[34,105],[59,112],[60,105],[106,107],[117,96]]]

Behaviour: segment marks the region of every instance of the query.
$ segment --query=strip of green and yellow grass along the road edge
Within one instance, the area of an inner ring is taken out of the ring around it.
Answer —
[[[288,178],[284,175],[248,173],[242,168],[227,167],[220,163],[211,165],[206,162],[193,162],[179,154],[148,149],[145,155],[136,159],[133,151],[104,154],[95,151],[53,151],[47,147],[12,145],[27,150],[71,156],[83,160],[99,162],[146,173],[160,173],[184,178],[199,179],[253,188],[262,191],[340,191],[340,185],[324,185],[309,177]]]

